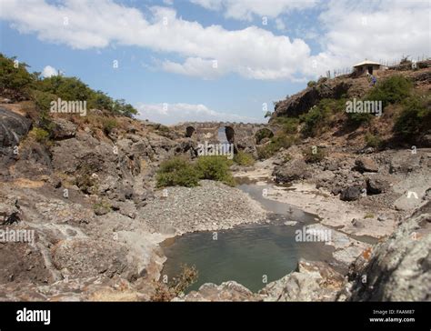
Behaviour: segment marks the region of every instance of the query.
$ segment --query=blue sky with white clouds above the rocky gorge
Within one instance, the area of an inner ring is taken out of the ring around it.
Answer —
[[[328,70],[430,56],[430,4],[1,0],[0,52],[123,98],[141,119],[262,123]]]

